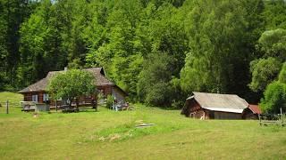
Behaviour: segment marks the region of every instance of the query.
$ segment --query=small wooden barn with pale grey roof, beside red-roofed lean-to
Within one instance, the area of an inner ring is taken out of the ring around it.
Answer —
[[[193,92],[181,114],[199,119],[241,119],[248,102],[235,94]]]

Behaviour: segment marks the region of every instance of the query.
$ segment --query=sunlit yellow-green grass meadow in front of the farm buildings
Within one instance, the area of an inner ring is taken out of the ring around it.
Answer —
[[[0,101],[11,96],[0,93]],[[12,98],[13,97],[13,98]],[[257,121],[194,120],[180,110],[51,114],[0,108],[0,159],[285,159],[286,127]],[[135,128],[140,122],[153,123]]]

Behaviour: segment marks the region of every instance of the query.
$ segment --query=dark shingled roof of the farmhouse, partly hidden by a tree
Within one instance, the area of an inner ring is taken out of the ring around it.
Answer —
[[[105,77],[105,72],[103,68],[83,68],[83,70],[87,70],[90,72],[93,76],[96,77],[96,84],[97,86],[102,86],[102,85],[114,85],[111,81],[109,81]],[[64,70],[61,71],[50,71],[46,75],[45,78],[39,80],[35,84],[31,84],[28,87],[24,88],[20,92],[39,92],[39,91],[46,91],[46,86],[48,84],[48,81],[58,73],[63,73]]]

